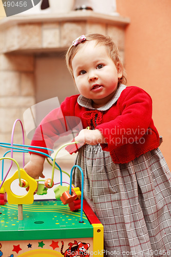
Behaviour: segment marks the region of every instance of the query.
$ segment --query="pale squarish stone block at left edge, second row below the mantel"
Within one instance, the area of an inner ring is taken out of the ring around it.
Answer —
[[[1,96],[18,96],[20,94],[20,74],[16,71],[0,71]]]

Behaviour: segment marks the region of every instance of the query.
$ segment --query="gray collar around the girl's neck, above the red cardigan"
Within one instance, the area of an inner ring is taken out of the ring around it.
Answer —
[[[122,91],[126,88],[125,85],[123,84],[119,84],[115,95],[110,99],[110,101],[108,103],[106,103],[105,105],[97,108],[98,111],[107,111],[114,103],[116,103],[118,101],[118,98],[120,97]],[[88,108],[88,109],[96,109],[92,107],[92,100],[88,99],[82,95],[80,95],[78,97],[78,104],[80,104],[81,106]]]

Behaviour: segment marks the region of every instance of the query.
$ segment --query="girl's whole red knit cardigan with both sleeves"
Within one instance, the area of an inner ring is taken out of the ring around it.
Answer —
[[[61,109],[54,109],[43,119],[36,128],[31,145],[53,148],[59,136],[65,135],[75,125],[80,126],[81,119],[80,130],[90,126],[101,131],[107,141],[101,144],[102,150],[109,151],[115,163],[129,162],[158,148],[159,134],[151,118],[152,101],[143,89],[126,87],[118,101],[106,111],[85,108],[78,103],[78,97],[67,97]],[[59,118],[61,111],[63,118]],[[71,148],[68,148],[70,153],[78,151],[75,145]]]

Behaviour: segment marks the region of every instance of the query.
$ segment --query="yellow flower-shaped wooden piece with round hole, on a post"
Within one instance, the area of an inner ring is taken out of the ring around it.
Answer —
[[[37,188],[37,182],[34,178],[30,177],[25,170],[20,169],[22,179],[29,183],[29,191],[25,195],[16,195],[11,191],[11,183],[18,178],[18,170],[12,177],[5,180],[4,188],[7,192],[7,200],[10,205],[32,204],[34,201],[34,191]]]

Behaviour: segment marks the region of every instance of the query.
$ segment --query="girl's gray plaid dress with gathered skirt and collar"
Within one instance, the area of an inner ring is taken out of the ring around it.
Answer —
[[[84,198],[104,226],[104,256],[171,256],[171,174],[159,148],[116,164],[100,144],[85,144],[75,164],[84,172]],[[81,187],[79,170],[73,180]]]

